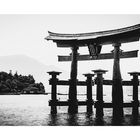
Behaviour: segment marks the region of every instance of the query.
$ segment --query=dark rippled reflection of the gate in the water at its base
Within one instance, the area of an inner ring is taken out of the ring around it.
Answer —
[[[78,114],[56,114],[50,115],[47,125],[50,126],[124,126],[139,125],[139,117],[131,117],[126,115],[119,119],[112,117],[95,117],[94,114],[78,113]]]

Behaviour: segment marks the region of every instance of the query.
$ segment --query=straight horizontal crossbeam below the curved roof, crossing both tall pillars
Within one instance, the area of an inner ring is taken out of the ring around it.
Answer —
[[[122,52],[120,54],[120,58],[133,58],[138,57],[138,50],[134,51],[127,51]],[[97,58],[92,58],[90,55],[77,55],[78,61],[84,61],[84,60],[103,60],[103,59],[113,59],[113,53],[103,53],[100,54]],[[71,56],[58,56],[58,61],[71,61]]]

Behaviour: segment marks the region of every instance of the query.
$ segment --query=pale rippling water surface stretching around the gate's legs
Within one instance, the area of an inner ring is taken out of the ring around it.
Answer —
[[[127,101],[130,98],[128,97]],[[111,117],[112,109],[104,109],[103,119],[95,117],[95,110],[92,115],[86,114],[86,107],[79,107],[79,113],[76,115],[67,114],[67,107],[58,107],[58,114],[50,115],[49,99],[50,95],[1,95],[0,125],[115,125]],[[125,117],[119,125],[140,125],[139,118],[131,118],[131,112],[131,108],[124,109]]]

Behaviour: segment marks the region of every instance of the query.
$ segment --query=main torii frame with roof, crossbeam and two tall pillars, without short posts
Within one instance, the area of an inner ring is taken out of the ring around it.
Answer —
[[[69,87],[69,112],[77,112],[77,61],[82,60],[100,60],[114,58],[113,66],[113,84],[112,84],[112,104],[113,115],[123,116],[123,89],[120,72],[120,58],[137,57],[136,51],[122,52],[120,50],[122,43],[139,41],[140,24],[121,29],[81,33],[81,34],[60,34],[48,32],[49,36],[45,39],[53,40],[57,47],[71,48],[70,56],[58,56],[59,61],[72,61]],[[112,44],[114,51],[112,53],[100,54],[103,45]],[[79,55],[79,47],[88,47],[89,55]]]

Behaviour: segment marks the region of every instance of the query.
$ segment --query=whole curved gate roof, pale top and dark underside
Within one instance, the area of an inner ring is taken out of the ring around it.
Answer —
[[[61,34],[48,31],[49,36],[45,39],[53,40],[58,47],[70,47],[72,42],[77,42],[79,46],[85,46],[94,42],[101,45],[112,43],[127,43],[138,41],[140,37],[140,24],[120,29],[79,33],[79,34]]]

